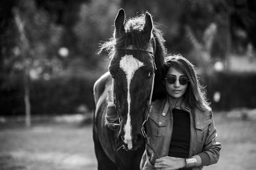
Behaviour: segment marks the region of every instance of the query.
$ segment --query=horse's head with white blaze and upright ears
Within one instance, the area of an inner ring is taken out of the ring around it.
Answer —
[[[136,150],[143,143],[141,126],[154,81],[153,21],[148,12],[125,24],[124,20],[124,10],[120,9],[115,19],[115,52],[109,71],[121,119],[118,138],[126,149]]]

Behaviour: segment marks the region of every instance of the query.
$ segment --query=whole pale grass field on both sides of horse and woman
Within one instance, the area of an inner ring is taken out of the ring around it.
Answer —
[[[256,169],[256,121],[215,113],[219,162],[203,169]],[[7,124],[7,123],[6,123]],[[92,125],[33,122],[31,129],[11,123],[0,128],[0,169],[96,169]]]

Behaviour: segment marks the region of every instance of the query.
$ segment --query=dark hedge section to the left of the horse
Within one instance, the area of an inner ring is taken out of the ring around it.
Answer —
[[[69,114],[85,105],[93,109],[93,84],[95,80],[80,77],[55,78],[49,81],[30,82],[30,102],[32,114]],[[11,87],[1,89],[1,115],[24,114],[23,83],[16,82]]]

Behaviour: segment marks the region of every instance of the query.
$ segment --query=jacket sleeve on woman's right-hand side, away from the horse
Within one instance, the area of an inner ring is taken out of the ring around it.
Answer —
[[[214,118],[212,116],[212,111],[210,111],[211,124],[208,127],[208,133],[203,147],[203,152],[198,155],[202,159],[202,166],[208,166],[210,164],[217,163],[220,157],[221,143],[216,141],[217,131],[214,123]]]

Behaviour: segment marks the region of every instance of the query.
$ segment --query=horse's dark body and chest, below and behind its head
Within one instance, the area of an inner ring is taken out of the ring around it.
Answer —
[[[94,115],[93,139],[98,169],[139,169],[144,147],[136,151],[117,150],[117,131],[105,125],[106,98],[111,87],[112,77],[104,74],[94,86],[96,110]]]

